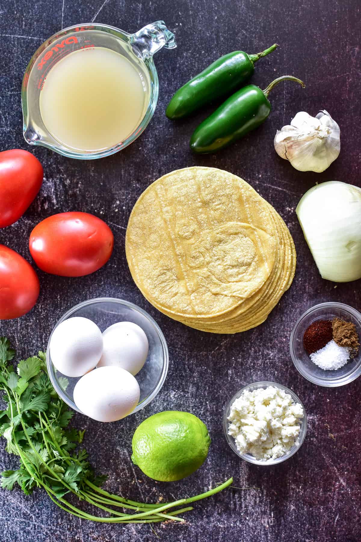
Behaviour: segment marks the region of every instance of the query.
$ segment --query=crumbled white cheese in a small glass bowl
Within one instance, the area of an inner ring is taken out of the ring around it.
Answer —
[[[275,386],[245,390],[228,416],[228,435],[241,454],[255,459],[277,459],[298,444],[303,408],[289,393]]]

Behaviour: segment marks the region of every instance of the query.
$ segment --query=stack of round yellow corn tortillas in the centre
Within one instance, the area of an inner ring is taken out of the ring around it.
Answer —
[[[278,213],[245,180],[213,167],[172,171],[151,184],[129,217],[126,254],[152,305],[212,333],[264,322],[296,267]]]

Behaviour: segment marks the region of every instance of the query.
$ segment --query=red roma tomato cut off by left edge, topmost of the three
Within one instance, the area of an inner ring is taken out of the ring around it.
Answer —
[[[43,167],[34,154],[20,149],[0,152],[0,228],[19,220],[42,182]]]

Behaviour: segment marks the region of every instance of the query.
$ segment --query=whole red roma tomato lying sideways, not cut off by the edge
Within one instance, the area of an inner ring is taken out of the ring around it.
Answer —
[[[113,234],[100,218],[87,212],[61,212],[35,226],[29,248],[46,273],[83,276],[109,260],[113,244]]]

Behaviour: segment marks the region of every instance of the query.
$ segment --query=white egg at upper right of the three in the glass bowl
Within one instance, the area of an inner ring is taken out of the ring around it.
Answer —
[[[121,367],[136,375],[146,363],[148,339],[133,322],[117,322],[103,332],[103,354],[98,367]]]

